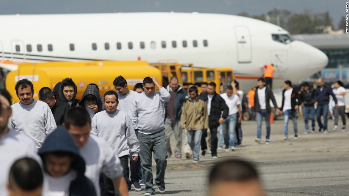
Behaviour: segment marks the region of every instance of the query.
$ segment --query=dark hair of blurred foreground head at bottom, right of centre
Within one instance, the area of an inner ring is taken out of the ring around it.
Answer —
[[[240,159],[221,161],[213,166],[209,173],[209,184],[220,181],[243,182],[259,180],[257,169],[254,165]]]

